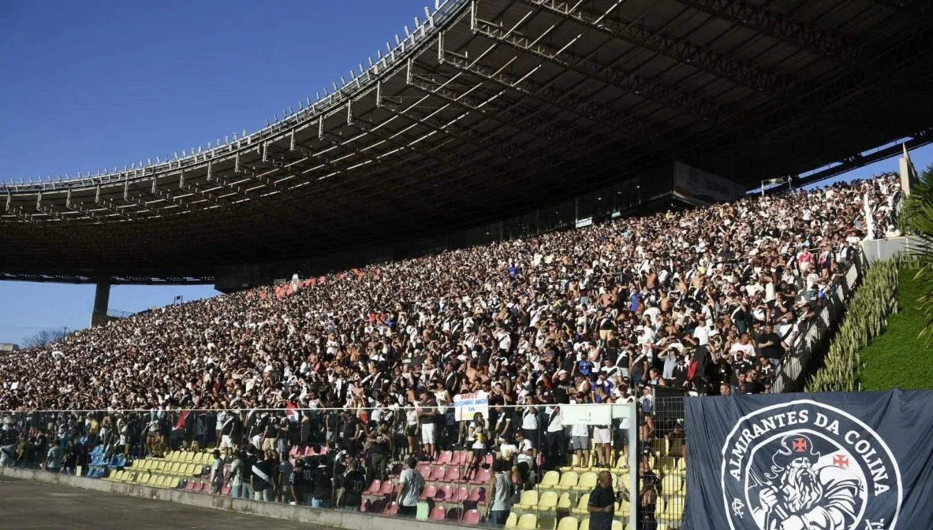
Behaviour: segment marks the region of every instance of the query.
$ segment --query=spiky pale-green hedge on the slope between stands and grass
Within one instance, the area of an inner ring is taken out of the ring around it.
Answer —
[[[808,392],[861,389],[861,351],[884,333],[887,317],[898,311],[899,258],[871,265],[862,285],[846,304],[845,319],[829,345],[823,367],[807,384]]]

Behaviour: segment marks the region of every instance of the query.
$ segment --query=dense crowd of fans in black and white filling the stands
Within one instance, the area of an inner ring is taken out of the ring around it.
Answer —
[[[620,426],[595,428],[591,448],[560,404],[650,412],[654,387],[768,391],[858,241],[895,230],[898,195],[884,176],[746,197],[162,307],[0,357],[0,410],[101,411],[15,414],[4,433],[27,459],[88,435],[131,456],[176,432],[276,465],[329,444],[346,466],[365,452],[369,480],[391,457],[448,448],[471,451],[475,472],[505,447],[528,464],[520,482],[536,451],[543,469],[568,450],[606,465]],[[478,391],[489,417],[455,421],[453,396]]]

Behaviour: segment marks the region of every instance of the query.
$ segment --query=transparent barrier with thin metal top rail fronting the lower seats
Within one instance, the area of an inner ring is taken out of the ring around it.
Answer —
[[[587,494],[605,471],[618,491],[615,519],[634,528],[634,403],[472,399],[461,407],[9,411],[0,413],[0,467],[444,523],[534,519],[538,528],[583,523]],[[400,482],[419,484],[413,506],[399,496]]]

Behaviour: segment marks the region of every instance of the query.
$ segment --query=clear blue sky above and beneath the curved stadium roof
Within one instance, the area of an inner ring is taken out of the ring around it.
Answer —
[[[367,64],[434,0],[25,2],[0,6],[0,178],[122,168],[261,129]],[[912,153],[918,168],[933,148]],[[891,159],[847,178],[897,170]],[[211,286],[116,286],[139,311]],[[90,285],[0,282],[0,342],[88,325]]]

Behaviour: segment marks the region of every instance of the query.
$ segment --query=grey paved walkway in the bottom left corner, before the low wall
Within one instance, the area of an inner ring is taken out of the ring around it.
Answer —
[[[0,477],[0,499],[0,529],[10,530],[326,529],[10,477]]]

